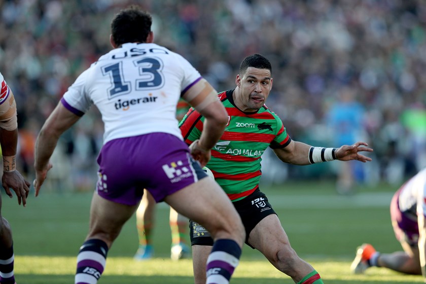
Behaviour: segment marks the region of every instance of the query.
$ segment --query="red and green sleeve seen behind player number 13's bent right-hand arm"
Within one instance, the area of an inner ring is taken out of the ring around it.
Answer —
[[[193,141],[200,138],[201,131],[203,131],[203,121],[204,117],[200,113],[193,108],[189,109],[179,123],[179,128],[186,144],[191,145]]]

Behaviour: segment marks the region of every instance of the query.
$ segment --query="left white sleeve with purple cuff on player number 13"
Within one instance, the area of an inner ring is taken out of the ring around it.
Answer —
[[[89,69],[85,70],[62,96],[63,106],[70,112],[83,116],[91,107],[92,101],[86,88]]]

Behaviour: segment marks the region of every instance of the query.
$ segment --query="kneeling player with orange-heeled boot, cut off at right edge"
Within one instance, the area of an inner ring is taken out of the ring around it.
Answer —
[[[402,252],[379,253],[369,244],[358,248],[350,267],[356,274],[371,266],[422,274],[426,282],[426,168],[404,183],[390,201],[390,220]]]

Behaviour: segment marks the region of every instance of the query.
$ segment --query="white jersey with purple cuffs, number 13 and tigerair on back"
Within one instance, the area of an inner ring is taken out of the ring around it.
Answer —
[[[163,132],[182,138],[176,104],[201,79],[181,55],[153,43],[127,43],[101,56],[65,92],[65,108],[82,116],[92,104],[102,115],[103,144]]]

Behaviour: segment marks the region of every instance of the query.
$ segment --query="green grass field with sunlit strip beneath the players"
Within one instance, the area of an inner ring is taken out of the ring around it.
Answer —
[[[421,283],[420,276],[371,268],[352,275],[349,265],[356,247],[370,242],[381,252],[400,250],[389,221],[388,204],[395,187],[360,188],[338,196],[331,182],[289,182],[262,189],[280,217],[292,246],[311,263],[326,283]],[[76,256],[88,229],[91,193],[33,192],[27,207],[3,195],[2,214],[14,234],[18,284],[73,283]],[[159,204],[154,229],[155,259],[134,262],[137,248],[134,217],[124,226],[109,252],[99,283],[192,283],[190,260],[172,262],[168,207]],[[293,283],[263,256],[245,246],[232,283]]]

